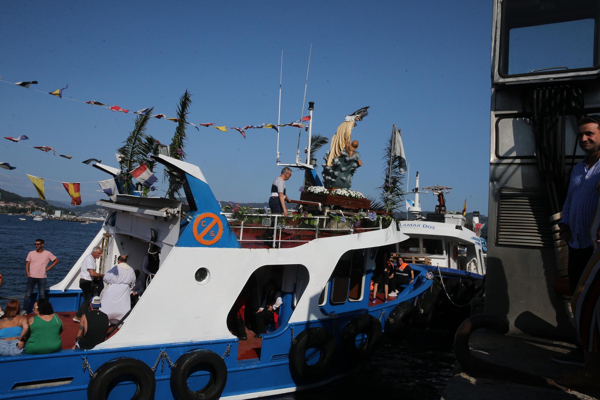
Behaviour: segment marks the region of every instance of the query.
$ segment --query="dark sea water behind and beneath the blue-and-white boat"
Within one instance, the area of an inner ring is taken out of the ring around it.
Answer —
[[[60,282],[82,255],[102,222],[82,225],[33,217],[0,214],[0,273],[4,277],[0,286],[2,308],[8,298],[22,302],[27,275],[25,259],[35,250],[35,240],[44,240],[44,249],[60,260],[48,271],[46,288]],[[36,288],[37,290],[37,288]],[[383,338],[370,361],[358,372],[326,386],[289,395],[271,396],[269,399],[322,399],[322,398],[402,398],[439,399],[446,381],[452,375],[454,353],[452,333],[442,330],[414,330],[406,337],[391,341]]]

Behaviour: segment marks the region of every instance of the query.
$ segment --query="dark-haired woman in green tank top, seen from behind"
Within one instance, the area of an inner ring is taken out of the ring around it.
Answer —
[[[34,317],[29,318],[29,339],[25,344],[27,354],[48,354],[62,350],[62,322],[54,314],[52,305],[45,298],[34,304]]]

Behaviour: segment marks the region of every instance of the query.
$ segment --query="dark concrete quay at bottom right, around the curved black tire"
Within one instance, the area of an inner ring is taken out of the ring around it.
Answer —
[[[452,377],[442,393],[444,400],[468,399],[598,399],[600,389],[578,389],[551,382],[540,384],[532,375],[551,381],[566,374],[577,375],[580,366],[563,365],[551,360],[551,357],[565,354],[575,348],[574,344],[536,338],[529,335],[500,335],[498,333],[477,330],[472,333],[469,347],[473,357],[496,366],[508,367],[523,372],[523,378],[515,380],[504,371],[481,368],[475,371],[463,371],[460,364],[454,366]],[[487,371],[486,371],[487,370]],[[518,374],[518,373],[517,373]],[[514,375],[514,374],[509,374]],[[562,380],[563,381],[563,380]]]

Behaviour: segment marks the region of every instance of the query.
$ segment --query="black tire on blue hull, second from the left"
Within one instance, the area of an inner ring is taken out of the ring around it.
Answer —
[[[190,374],[201,366],[209,371],[211,378],[205,387],[200,390],[190,390],[187,380]],[[213,400],[218,399],[227,383],[227,366],[221,356],[210,350],[197,349],[182,354],[177,359],[171,371],[171,392],[173,398],[179,400]]]

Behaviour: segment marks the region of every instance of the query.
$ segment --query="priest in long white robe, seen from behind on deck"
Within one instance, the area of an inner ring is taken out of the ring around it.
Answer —
[[[117,264],[104,274],[104,283],[109,286],[102,295],[100,311],[108,315],[111,324],[118,323],[131,309],[130,293],[136,273],[126,261],[127,256],[120,255]]]

